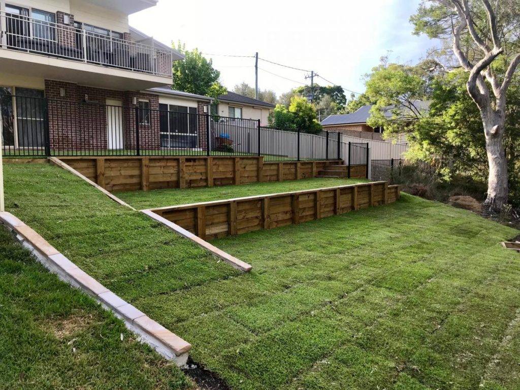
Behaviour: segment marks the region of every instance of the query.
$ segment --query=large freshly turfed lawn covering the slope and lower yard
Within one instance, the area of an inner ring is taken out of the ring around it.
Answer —
[[[403,194],[214,241],[240,274],[56,167],[5,168],[9,211],[233,389],[520,388],[517,230]]]

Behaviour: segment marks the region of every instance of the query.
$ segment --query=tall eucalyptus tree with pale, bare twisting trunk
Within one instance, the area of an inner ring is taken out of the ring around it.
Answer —
[[[423,0],[412,16],[415,33],[451,42],[450,55],[467,72],[467,93],[482,119],[489,165],[485,206],[508,202],[504,151],[506,93],[520,65],[518,0]]]

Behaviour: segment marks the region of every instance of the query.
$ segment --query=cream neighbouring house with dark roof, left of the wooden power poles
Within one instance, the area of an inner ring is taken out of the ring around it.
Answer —
[[[262,126],[267,126],[267,119],[274,108],[275,105],[271,103],[228,91],[226,95],[218,97],[215,112],[217,115],[230,118],[260,120]]]

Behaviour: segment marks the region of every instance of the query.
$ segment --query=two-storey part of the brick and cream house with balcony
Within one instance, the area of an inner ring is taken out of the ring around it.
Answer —
[[[139,141],[145,149],[174,144],[159,125],[160,105],[174,100],[162,103],[148,89],[171,84],[172,62],[184,57],[128,25],[128,15],[155,4],[0,0],[5,145],[110,150]],[[138,138],[136,123],[142,125]]]

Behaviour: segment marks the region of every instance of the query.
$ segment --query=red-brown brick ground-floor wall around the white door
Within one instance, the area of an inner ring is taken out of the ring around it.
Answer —
[[[60,96],[60,88],[65,96]],[[45,80],[49,99],[49,135],[51,149],[105,150],[109,148],[109,127],[113,130],[113,148],[136,147],[136,113],[134,97],[150,102],[149,123],[139,125],[139,147],[160,148],[159,97],[137,92],[92,88],[73,83]],[[119,100],[122,107],[106,106],[107,99]],[[107,122],[107,109],[111,121]],[[122,137],[115,131],[121,128]]]

